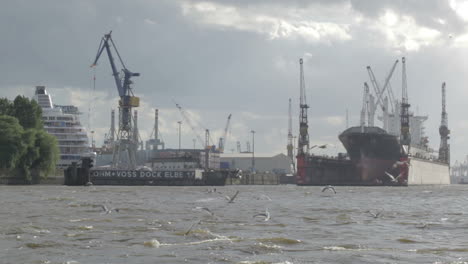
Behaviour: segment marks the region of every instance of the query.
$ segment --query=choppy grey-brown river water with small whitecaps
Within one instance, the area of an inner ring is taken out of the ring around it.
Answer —
[[[0,186],[0,262],[468,262],[468,185],[210,189]]]

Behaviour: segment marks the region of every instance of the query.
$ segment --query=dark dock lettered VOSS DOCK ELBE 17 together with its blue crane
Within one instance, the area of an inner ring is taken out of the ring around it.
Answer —
[[[208,142],[204,149],[181,149],[180,143],[178,149],[165,148],[158,137],[158,110],[155,110],[153,135],[143,148],[136,110],[140,99],[134,94],[132,80],[140,74],[125,67],[111,34],[109,32],[102,37],[92,67],[97,65],[102,54],[107,54],[120,97],[118,111],[111,112],[110,130],[105,136],[104,146],[95,149],[96,160],[84,159],[68,167],[66,184],[224,185],[226,178],[234,172],[220,169],[219,151]],[[114,60],[115,54],[118,61]],[[120,71],[116,62],[120,62]]]

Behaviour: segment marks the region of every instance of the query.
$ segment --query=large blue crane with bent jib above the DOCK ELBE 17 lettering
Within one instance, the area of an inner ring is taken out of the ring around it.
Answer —
[[[117,86],[117,91],[120,96],[119,100],[119,129],[117,132],[117,140],[112,155],[112,167],[113,168],[125,168],[135,169],[136,168],[136,149],[138,142],[135,141],[133,121],[132,121],[132,108],[140,105],[140,98],[134,96],[131,85],[132,77],[140,76],[139,73],[132,72],[125,67],[125,64],[112,40],[112,31],[105,34],[99,44],[96,59],[94,60],[91,67],[97,65],[99,58],[104,50],[106,50],[109,57],[109,62],[112,68],[112,75]],[[119,72],[114,62],[111,47],[114,49],[117,57],[122,65],[122,70]],[[125,165],[123,154],[127,153],[128,159]]]

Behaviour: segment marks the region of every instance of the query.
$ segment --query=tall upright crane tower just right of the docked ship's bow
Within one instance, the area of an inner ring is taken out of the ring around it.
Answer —
[[[411,135],[410,135],[410,123],[409,123],[409,107],[411,106],[408,102],[408,87],[406,83],[406,59],[405,57],[401,58],[402,63],[402,84],[401,84],[401,134],[400,134],[400,143],[402,146],[407,146],[406,154],[409,153],[409,148],[411,145]]]

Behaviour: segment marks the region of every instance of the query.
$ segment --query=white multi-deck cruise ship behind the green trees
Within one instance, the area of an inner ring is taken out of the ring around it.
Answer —
[[[72,105],[54,105],[45,86],[36,86],[34,100],[42,108],[44,129],[57,138],[60,149],[58,169],[67,168],[72,162],[80,162],[91,149],[86,129],[81,125],[78,108]]]

